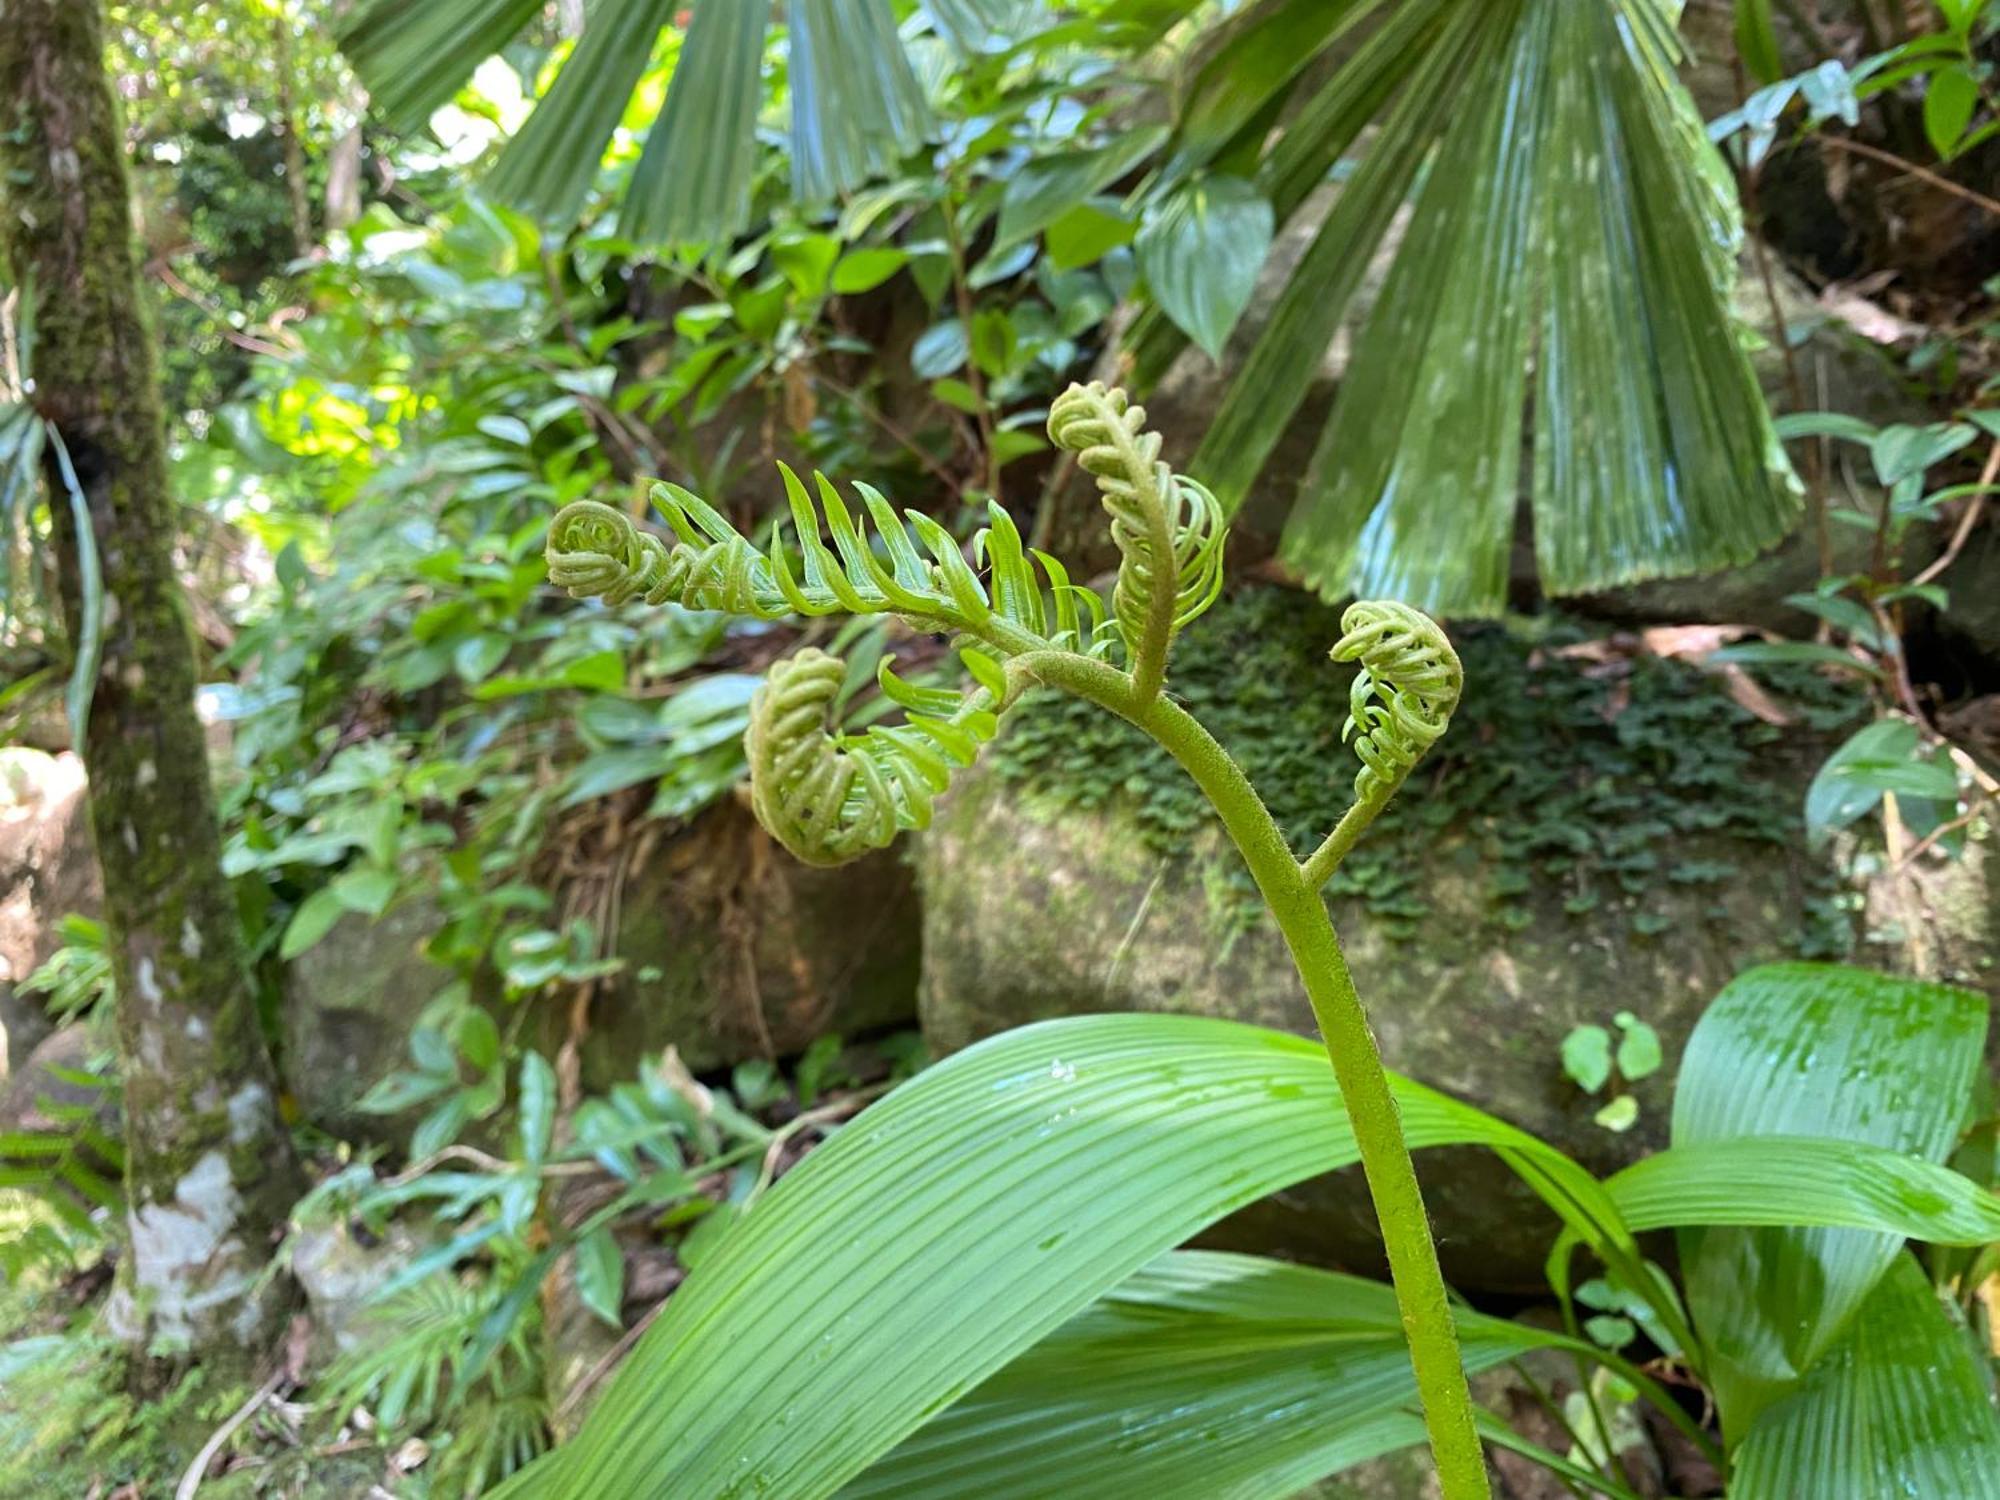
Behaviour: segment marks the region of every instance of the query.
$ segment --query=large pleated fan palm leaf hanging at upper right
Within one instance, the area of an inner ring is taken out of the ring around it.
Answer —
[[[1360,48],[1328,104],[1302,106],[1296,162],[1278,168],[1284,142],[1266,160],[1282,214],[1354,104],[1400,82],[1190,468],[1242,500],[1428,164],[1286,560],[1328,594],[1498,610],[1530,362],[1552,592],[1746,560],[1798,496],[1728,314],[1734,204],[1662,6],[1500,0],[1438,28],[1424,12],[1404,8],[1384,26],[1410,28],[1396,52]]]

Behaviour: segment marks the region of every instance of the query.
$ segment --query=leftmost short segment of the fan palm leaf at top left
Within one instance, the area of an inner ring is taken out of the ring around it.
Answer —
[[[540,8],[542,0],[370,0],[336,36],[374,108],[414,130]]]

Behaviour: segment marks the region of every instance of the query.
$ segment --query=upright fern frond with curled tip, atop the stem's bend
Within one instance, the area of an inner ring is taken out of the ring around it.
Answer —
[[[1076,454],[1104,496],[1120,556],[1112,616],[1134,672],[1164,670],[1174,634],[1222,590],[1222,506],[1160,460],[1146,408],[1118,388],[1070,386],[1048,410],[1048,436]]]

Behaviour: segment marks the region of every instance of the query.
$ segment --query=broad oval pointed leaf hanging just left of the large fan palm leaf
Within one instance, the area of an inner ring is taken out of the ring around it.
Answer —
[[[1256,290],[1270,234],[1264,196],[1226,176],[1180,188],[1138,232],[1138,266],[1154,298],[1212,360]]]

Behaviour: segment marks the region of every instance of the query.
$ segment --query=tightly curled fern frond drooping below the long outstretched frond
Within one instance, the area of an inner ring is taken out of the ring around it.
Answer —
[[[970,766],[1000,728],[1000,664],[966,650],[978,688],[960,696],[878,670],[902,724],[846,736],[830,728],[846,678],[838,656],[806,646],[770,668],[750,700],[750,802],[758,822],[806,864],[846,864],[888,848],[904,828],[928,828],[952,772]]]

